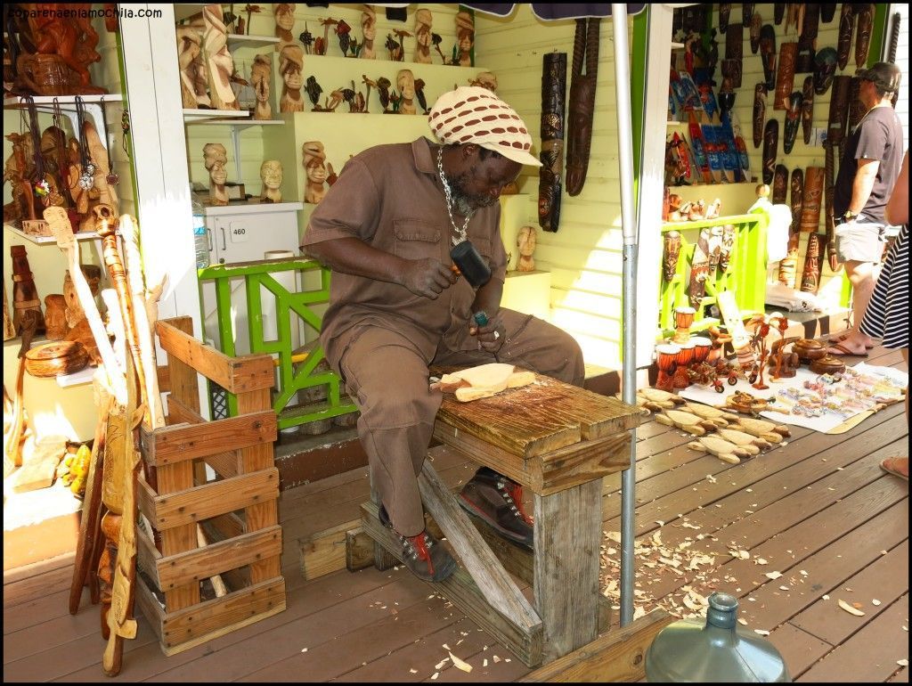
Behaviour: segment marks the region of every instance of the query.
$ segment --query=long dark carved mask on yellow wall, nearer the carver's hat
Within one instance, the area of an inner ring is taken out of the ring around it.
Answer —
[[[555,232],[560,225],[564,177],[564,110],[567,56],[542,57],[542,168],[538,174],[538,225]]]

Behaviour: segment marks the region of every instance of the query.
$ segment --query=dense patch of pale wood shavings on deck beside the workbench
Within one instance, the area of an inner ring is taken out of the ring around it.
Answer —
[[[606,532],[605,540],[600,555],[602,595],[612,601],[614,609],[618,609],[621,595],[620,533]],[[634,619],[643,617],[656,608],[661,608],[676,618],[705,618],[710,595],[718,589],[731,588],[737,583],[734,577],[721,573],[717,568],[717,556],[690,550],[692,544],[693,539],[687,538],[677,546],[665,546],[662,543],[661,529],[637,538],[634,542],[637,566],[633,592]],[[722,561],[719,560],[718,564]],[[689,583],[657,598],[649,592],[649,587],[668,575],[686,578]]]

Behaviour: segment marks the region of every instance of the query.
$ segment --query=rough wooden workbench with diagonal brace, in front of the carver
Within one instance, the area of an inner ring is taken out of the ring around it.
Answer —
[[[419,483],[461,566],[434,586],[530,667],[586,646],[605,622],[602,477],[629,467],[628,430],[640,416],[619,400],[540,375],[472,402],[444,396],[434,425],[442,445],[428,452]],[[532,552],[472,525],[433,468],[436,455],[453,451],[531,489]],[[377,504],[362,505],[365,531],[399,556],[399,541],[377,513]],[[508,572],[533,587],[532,602]]]

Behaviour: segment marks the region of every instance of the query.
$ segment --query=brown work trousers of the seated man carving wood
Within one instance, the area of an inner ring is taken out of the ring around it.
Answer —
[[[334,346],[341,359],[329,362],[361,411],[358,436],[368,453],[372,486],[400,535],[424,530],[418,474],[442,400],[440,391],[429,389],[429,365],[472,367],[500,361],[583,384],[583,354],[574,338],[530,315],[503,308],[500,314],[506,335],[496,356],[484,350],[448,350],[441,344],[427,359],[416,343],[426,334],[409,327],[355,327]]]

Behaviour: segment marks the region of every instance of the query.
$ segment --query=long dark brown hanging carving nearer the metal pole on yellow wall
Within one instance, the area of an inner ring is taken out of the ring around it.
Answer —
[[[592,144],[592,119],[596,110],[598,76],[598,26],[601,19],[576,20],[573,46],[573,77],[570,81],[570,107],[567,121],[567,194],[579,195],[586,183],[589,148]],[[586,74],[583,73],[584,57]]]

